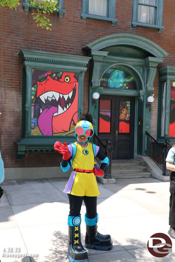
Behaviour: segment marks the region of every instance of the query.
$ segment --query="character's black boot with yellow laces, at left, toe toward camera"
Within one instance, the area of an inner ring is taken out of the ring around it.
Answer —
[[[70,262],[88,262],[88,253],[81,244],[80,216],[68,216],[68,250],[67,257]],[[75,224],[80,221],[77,226]],[[71,222],[70,222],[71,221]],[[69,224],[72,224],[70,226]]]

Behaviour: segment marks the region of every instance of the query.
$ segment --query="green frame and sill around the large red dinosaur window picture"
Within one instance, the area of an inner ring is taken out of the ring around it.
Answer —
[[[62,135],[62,133],[61,135],[57,135],[56,133],[52,133],[52,135],[42,135],[42,133],[32,135],[32,100],[34,98],[32,93],[32,71],[41,70],[49,72],[62,72],[66,74],[69,73],[69,76],[71,76],[72,73],[78,75],[78,98],[76,100],[78,101],[78,118],[79,115],[84,111],[83,80],[84,73],[87,70],[86,66],[91,59],[87,56],[85,57],[67,54],[47,53],[31,50],[21,50],[19,56],[22,59],[22,134],[21,138],[15,141],[15,160],[22,160],[22,157],[25,155],[25,153],[52,153],[54,152],[53,145],[55,141],[65,141],[65,135]],[[42,79],[44,78],[42,77]],[[43,83],[45,81],[43,80],[42,82],[42,79],[41,81],[39,81],[39,83]],[[68,80],[69,79],[65,77],[65,81]],[[60,80],[59,82],[62,82],[62,80]],[[41,94],[43,94],[42,90],[40,92]],[[45,92],[48,93],[48,91]],[[68,96],[66,99],[68,99]],[[75,142],[74,134],[67,135],[66,141],[67,143]]]

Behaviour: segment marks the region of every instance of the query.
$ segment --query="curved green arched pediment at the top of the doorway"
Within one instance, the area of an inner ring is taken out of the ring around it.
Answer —
[[[158,44],[155,44],[147,38],[134,34],[112,34],[110,36],[104,36],[83,47],[82,50],[89,52],[90,50],[100,50],[108,46],[117,46],[121,44],[142,48],[158,58],[168,56],[168,53]]]

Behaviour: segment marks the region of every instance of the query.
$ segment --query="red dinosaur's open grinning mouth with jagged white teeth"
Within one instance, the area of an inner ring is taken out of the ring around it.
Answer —
[[[57,116],[64,113],[71,106],[72,102],[74,101],[75,94],[76,84],[69,94],[61,94],[55,91],[48,91],[40,95],[39,97],[44,104],[49,103],[48,101],[52,100],[52,105],[58,107],[58,111],[54,113],[53,116]],[[46,100],[48,101],[46,102]],[[40,113],[42,113],[42,108],[40,108]]]

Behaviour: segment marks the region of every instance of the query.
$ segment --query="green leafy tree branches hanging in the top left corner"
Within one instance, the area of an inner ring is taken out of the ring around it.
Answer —
[[[15,10],[17,9],[16,7],[20,5],[20,0],[0,0],[0,7],[3,6],[8,6],[9,8]],[[32,11],[32,15],[35,15],[34,19],[37,22],[37,26],[41,26],[42,28],[46,28],[47,30],[50,29],[50,26],[52,25],[50,23],[50,20],[45,17],[44,14],[48,13],[53,13],[53,11],[58,11],[59,7],[57,7],[57,0],[29,0],[28,5],[37,7],[34,11]]]

